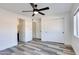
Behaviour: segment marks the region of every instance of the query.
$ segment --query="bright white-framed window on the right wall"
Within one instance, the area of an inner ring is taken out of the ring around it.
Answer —
[[[79,8],[74,14],[74,35],[79,38]]]

